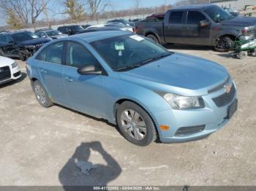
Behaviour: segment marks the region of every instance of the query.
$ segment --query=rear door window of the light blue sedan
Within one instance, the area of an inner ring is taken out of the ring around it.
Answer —
[[[61,64],[64,42],[50,44],[37,55],[37,60],[49,63]]]

